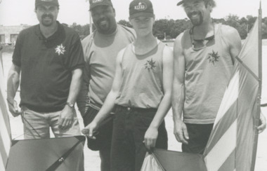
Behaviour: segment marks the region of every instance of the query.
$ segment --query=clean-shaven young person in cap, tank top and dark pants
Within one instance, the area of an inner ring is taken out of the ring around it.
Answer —
[[[147,149],[167,149],[164,116],[171,107],[173,53],[152,34],[155,15],[149,0],[132,1],[129,13],[136,41],[119,52],[112,89],[83,130],[92,137],[116,105],[112,170],[141,170]]]

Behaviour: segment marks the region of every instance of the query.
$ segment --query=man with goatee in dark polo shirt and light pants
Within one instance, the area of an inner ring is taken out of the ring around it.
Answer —
[[[82,43],[57,21],[58,10],[58,0],[36,0],[39,25],[22,30],[15,44],[7,100],[13,116],[22,114],[25,139],[48,138],[49,128],[55,137],[80,135],[74,103],[84,67]],[[19,84],[21,112],[14,100]]]

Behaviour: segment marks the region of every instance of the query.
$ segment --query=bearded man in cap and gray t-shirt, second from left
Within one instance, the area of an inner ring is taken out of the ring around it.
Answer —
[[[115,9],[110,0],[89,2],[96,30],[82,41],[86,66],[84,84],[77,101],[85,126],[98,114],[110,92],[119,50],[136,37],[133,29],[117,25]],[[110,118],[113,116],[113,113],[111,114]],[[88,139],[88,147],[95,151],[99,150],[101,170],[110,170],[112,119],[109,119],[98,132],[96,139]]]

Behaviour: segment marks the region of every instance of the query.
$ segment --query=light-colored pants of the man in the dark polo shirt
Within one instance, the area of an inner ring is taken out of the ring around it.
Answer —
[[[39,113],[22,107],[22,121],[24,123],[24,139],[49,138],[51,128],[55,137],[70,137],[81,135],[79,121],[74,110],[72,126],[66,130],[58,128],[58,117],[61,111],[51,113]]]

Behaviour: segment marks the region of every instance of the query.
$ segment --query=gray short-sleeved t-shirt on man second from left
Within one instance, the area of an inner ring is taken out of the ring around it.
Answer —
[[[104,35],[93,32],[82,41],[86,66],[84,81],[89,85],[89,100],[100,107],[112,87],[117,54],[135,40],[133,29],[117,25],[116,32]]]

